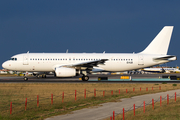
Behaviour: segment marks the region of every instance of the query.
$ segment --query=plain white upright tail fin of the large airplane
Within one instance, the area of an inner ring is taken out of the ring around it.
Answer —
[[[141,54],[166,55],[174,26],[165,26]]]

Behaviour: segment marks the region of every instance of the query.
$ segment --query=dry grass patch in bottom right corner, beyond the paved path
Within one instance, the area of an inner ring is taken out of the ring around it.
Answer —
[[[135,116],[133,111],[128,111],[125,113],[126,120],[179,120],[180,118],[180,98],[177,98],[176,102],[174,99],[170,99],[169,104],[164,100],[162,106],[159,102],[154,104],[154,109],[152,105],[145,107],[145,113],[143,108],[136,109]],[[122,120],[122,114],[117,115],[115,120]],[[109,120],[107,118],[106,120]]]

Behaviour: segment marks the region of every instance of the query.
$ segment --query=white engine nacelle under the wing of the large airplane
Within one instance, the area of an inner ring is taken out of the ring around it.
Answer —
[[[56,77],[73,77],[76,76],[76,69],[60,67],[55,70]]]

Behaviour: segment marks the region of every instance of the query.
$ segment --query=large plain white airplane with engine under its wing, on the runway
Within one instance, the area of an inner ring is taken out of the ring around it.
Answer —
[[[14,71],[54,72],[56,77],[83,75],[92,71],[129,71],[176,60],[167,55],[173,26],[165,26],[140,53],[23,53],[11,57],[2,67]],[[28,80],[25,76],[24,80]]]

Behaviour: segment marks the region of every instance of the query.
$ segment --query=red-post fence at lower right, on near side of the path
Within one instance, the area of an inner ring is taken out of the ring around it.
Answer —
[[[122,115],[122,119],[125,120],[125,113],[126,112],[129,112],[129,111],[132,111],[133,112],[133,115],[135,116],[136,115],[136,109],[138,108],[143,108],[143,113],[145,112],[148,112],[146,110],[146,107],[145,106],[148,106],[148,105],[152,105],[152,109],[151,110],[154,110],[154,104],[159,102],[159,106],[158,107],[161,107],[162,106],[162,101],[167,101],[167,105],[170,103],[170,100],[169,99],[174,99],[174,102],[176,102],[177,100],[177,97],[180,97],[180,93],[179,94],[176,94],[176,92],[174,93],[174,95],[171,95],[169,96],[169,94],[167,94],[167,96],[165,97],[162,97],[160,96],[158,99],[152,99],[152,100],[149,100],[148,102],[142,102],[141,104],[139,105],[135,105],[133,104],[131,107],[125,109],[123,108],[122,110],[120,111],[113,111],[112,112],[112,116],[110,116],[110,120],[115,120],[115,116],[118,116],[118,115]]]

